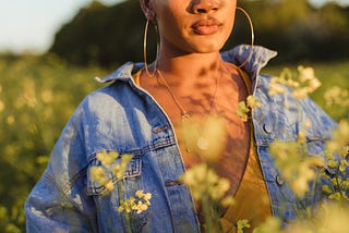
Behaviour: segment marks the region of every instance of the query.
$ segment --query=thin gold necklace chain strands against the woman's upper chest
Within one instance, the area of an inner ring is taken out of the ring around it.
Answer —
[[[218,75],[217,75],[216,78],[215,78],[215,89],[214,89],[213,95],[210,96],[209,108],[208,108],[208,112],[207,112],[208,114],[212,113],[212,110],[213,110],[213,108],[214,108],[214,106],[215,106],[215,100],[216,100],[216,96],[217,96],[217,91],[218,91],[219,77],[221,76],[221,71],[219,70],[218,72],[219,72],[219,73],[218,73]],[[185,119],[185,118],[189,118],[189,119],[190,119],[191,116],[190,116],[189,112],[188,112],[188,111],[184,109],[184,107],[180,103],[179,99],[176,97],[176,95],[173,94],[171,87],[169,86],[169,84],[168,84],[167,81],[165,79],[163,73],[161,73],[159,70],[156,70],[156,73],[157,73],[156,77],[157,77],[158,84],[164,85],[164,86],[167,88],[168,93],[170,94],[170,96],[171,96],[172,99],[173,99],[173,102],[174,102],[176,106],[179,108],[179,110],[180,110],[180,112],[181,112],[182,119]],[[161,84],[161,83],[159,82],[159,78],[161,79],[161,82],[163,82],[164,84]]]

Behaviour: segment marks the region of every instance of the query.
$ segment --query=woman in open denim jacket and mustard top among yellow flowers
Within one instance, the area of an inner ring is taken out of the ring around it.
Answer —
[[[285,221],[294,218],[294,196],[274,168],[267,145],[276,138],[294,139],[297,125],[310,120],[314,122],[308,130],[310,138],[318,139],[313,149],[323,149],[324,132],[335,123],[308,99],[302,102],[303,119],[296,119],[292,110],[280,109],[267,97],[269,77],[260,71],[275,52],[241,46],[220,56],[232,30],[234,0],[141,0],[141,5],[146,19],[158,26],[156,61],[149,68],[124,64],[100,79],[112,81],[109,86],[80,105],[26,201],[27,231],[125,231],[118,212],[119,188],[101,195],[104,188],[91,180],[96,154],[107,150],[133,155],[123,179],[115,182],[122,186],[124,198],[137,189],[152,193],[140,229],[200,232],[200,206],[194,208],[190,191],[178,182],[200,159],[190,155],[179,125],[182,119],[213,113],[224,119],[226,128],[226,136],[218,138],[225,148],[216,169],[229,179],[229,194],[241,200],[221,210],[224,224],[248,218],[257,225],[272,214]],[[262,103],[253,112],[253,132],[251,122],[236,115],[238,102],[249,91]],[[285,198],[289,203],[281,206]]]

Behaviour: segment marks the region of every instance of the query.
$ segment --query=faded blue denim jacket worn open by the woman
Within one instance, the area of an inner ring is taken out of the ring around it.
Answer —
[[[221,57],[239,64],[249,51],[250,47],[240,46]],[[310,156],[318,156],[336,123],[310,99],[297,103],[287,94],[267,95],[270,77],[260,71],[275,56],[254,47],[243,69],[262,103],[252,116],[272,211],[288,221],[294,218],[296,197],[274,167],[268,145],[275,139],[294,140],[304,121],[311,121],[306,128]],[[75,110],[26,200],[27,232],[124,232],[124,219],[118,212],[120,195],[128,198],[136,189],[153,195],[142,219],[146,222],[143,232],[200,232],[190,191],[177,182],[185,170],[173,126],[154,98],[132,79],[142,66],[125,63],[100,78],[112,83],[88,95]],[[285,98],[290,108],[282,107]],[[118,187],[110,195],[103,195],[105,188],[91,180],[91,167],[98,164],[96,152],[103,150],[134,156],[123,179],[110,177]],[[123,192],[117,192],[120,188]]]

